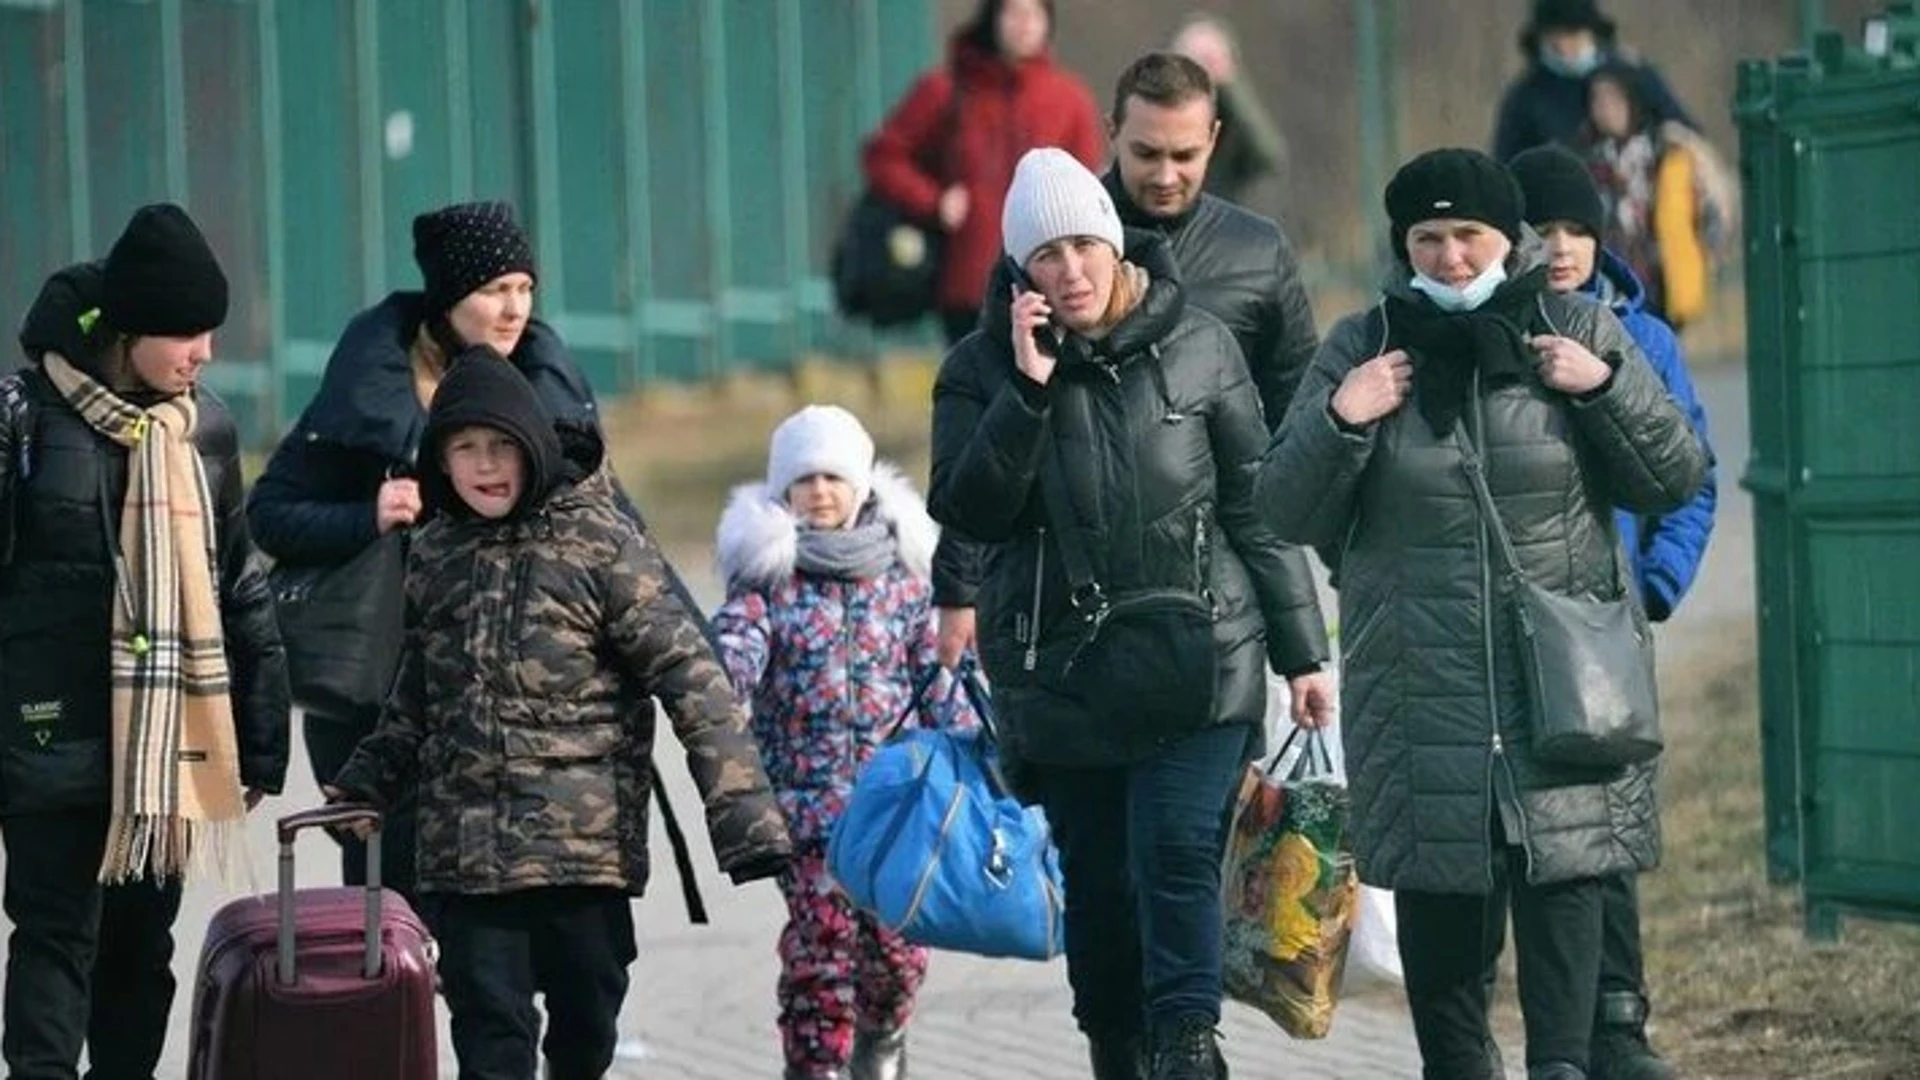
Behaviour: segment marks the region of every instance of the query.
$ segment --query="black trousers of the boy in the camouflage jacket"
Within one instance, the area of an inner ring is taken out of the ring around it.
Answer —
[[[528,1080],[540,1053],[551,1080],[607,1072],[636,955],[624,892],[426,894],[422,913],[440,940],[461,1080]],[[536,994],[547,1005],[545,1042]]]

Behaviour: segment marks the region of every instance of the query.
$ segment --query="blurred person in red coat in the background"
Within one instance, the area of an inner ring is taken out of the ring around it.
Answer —
[[[1020,156],[1062,146],[1092,169],[1106,154],[1092,92],[1054,63],[1054,0],[981,0],[947,65],[922,75],[866,144],[874,192],[947,231],[937,296],[947,344],[979,321]]]

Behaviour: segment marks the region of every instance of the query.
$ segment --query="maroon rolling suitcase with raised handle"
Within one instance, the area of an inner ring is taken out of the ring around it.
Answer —
[[[294,838],[372,821],[367,888],[294,888]],[[188,1080],[434,1080],[434,942],[380,888],[380,815],[282,817],[280,890],[221,907],[200,949]]]

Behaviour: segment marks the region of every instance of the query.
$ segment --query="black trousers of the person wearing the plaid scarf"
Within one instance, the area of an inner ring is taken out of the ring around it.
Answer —
[[[6,1034],[13,1080],[152,1080],[173,1011],[180,882],[102,886],[108,809],[15,815],[6,836]]]

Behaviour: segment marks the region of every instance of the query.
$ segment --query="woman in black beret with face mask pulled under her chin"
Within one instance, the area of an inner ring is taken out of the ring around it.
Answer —
[[[1548,288],[1521,190],[1475,150],[1386,188],[1400,277],[1329,334],[1260,473],[1260,509],[1340,577],[1344,740],[1361,880],[1394,890],[1428,1078],[1500,1076],[1486,1022],[1507,913],[1526,1067],[1586,1076],[1601,878],[1653,865],[1620,769],[1534,755],[1496,582],[1620,592],[1615,507],[1678,509],[1707,455],[1607,307]]]

